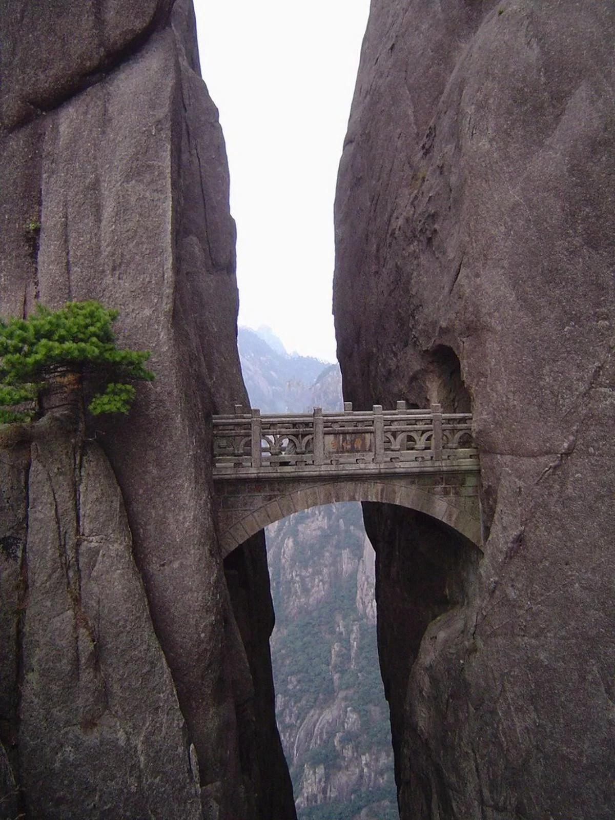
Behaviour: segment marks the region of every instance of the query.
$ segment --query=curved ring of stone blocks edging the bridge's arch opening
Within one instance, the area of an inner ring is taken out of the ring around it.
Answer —
[[[456,488],[458,494],[440,494],[436,485],[426,489],[402,481],[323,481],[311,486],[289,488],[275,498],[262,498],[253,509],[235,512],[222,521],[221,547],[224,555],[243,544],[251,535],[294,512],[321,504],[343,501],[374,501],[407,507],[453,527],[473,544],[481,547],[481,522],[477,487]],[[431,491],[430,491],[431,490]]]

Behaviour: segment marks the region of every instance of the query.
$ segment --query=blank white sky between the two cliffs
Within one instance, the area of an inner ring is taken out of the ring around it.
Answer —
[[[333,200],[369,0],[194,0],[225,134],[239,324],[335,361]]]

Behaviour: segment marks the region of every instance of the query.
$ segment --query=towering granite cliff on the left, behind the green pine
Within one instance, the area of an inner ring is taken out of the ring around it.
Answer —
[[[157,375],[85,438],[4,436],[0,813],[294,817],[264,540],[224,566],[212,517],[208,420],[247,396],[192,5],[17,0],[0,41],[0,314],[97,298]]]

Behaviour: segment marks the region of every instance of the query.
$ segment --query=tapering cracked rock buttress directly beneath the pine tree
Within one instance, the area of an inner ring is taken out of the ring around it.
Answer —
[[[97,444],[32,445],[18,771],[29,817],[200,818],[198,767]]]

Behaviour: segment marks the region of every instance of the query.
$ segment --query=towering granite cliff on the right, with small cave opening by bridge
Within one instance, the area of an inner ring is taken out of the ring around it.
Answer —
[[[344,398],[474,413],[481,553],[366,508],[402,818],[613,816],[611,3],[371,3]]]

